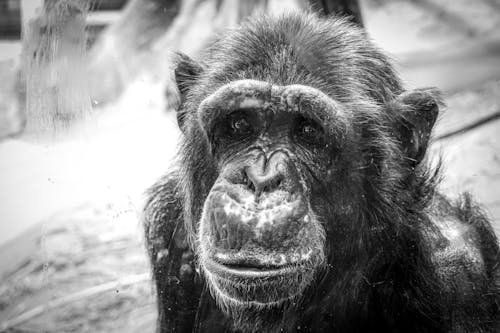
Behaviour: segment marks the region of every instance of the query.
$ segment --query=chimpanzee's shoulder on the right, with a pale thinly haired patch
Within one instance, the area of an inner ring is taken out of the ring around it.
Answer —
[[[453,323],[450,331],[497,331],[500,249],[486,214],[470,193],[456,200],[436,193],[428,210],[435,229],[425,238],[445,296],[443,313]]]

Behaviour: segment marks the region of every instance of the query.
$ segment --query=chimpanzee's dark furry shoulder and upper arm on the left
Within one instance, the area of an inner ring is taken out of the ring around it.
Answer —
[[[186,237],[183,205],[178,174],[171,172],[148,190],[143,208],[142,221],[156,283],[160,331],[190,329],[201,294],[194,253]]]

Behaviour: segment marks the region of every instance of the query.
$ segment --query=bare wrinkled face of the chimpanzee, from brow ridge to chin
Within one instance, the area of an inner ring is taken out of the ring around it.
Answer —
[[[341,105],[302,85],[241,80],[198,110],[219,177],[203,208],[200,263],[224,302],[283,302],[324,262],[311,205],[347,131]]]

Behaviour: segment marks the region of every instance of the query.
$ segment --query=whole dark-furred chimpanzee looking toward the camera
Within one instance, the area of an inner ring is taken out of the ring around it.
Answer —
[[[437,192],[442,105],[342,18],[177,54],[178,163],[144,223],[161,332],[499,332],[486,217]]]

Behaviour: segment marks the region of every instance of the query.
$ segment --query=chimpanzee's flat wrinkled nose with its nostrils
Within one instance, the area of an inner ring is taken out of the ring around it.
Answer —
[[[263,192],[272,192],[282,185],[286,173],[286,159],[284,153],[276,153],[266,161],[265,156],[260,156],[246,169],[247,186],[259,195]]]

